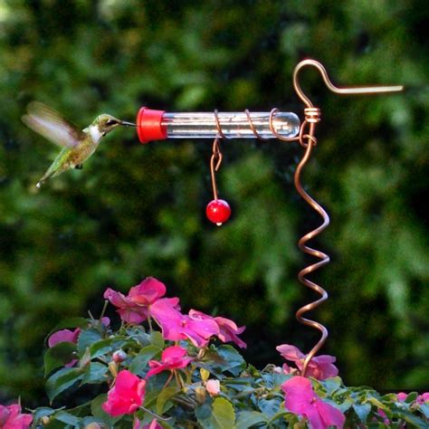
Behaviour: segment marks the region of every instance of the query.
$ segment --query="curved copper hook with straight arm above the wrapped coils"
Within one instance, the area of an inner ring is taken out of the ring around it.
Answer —
[[[320,62],[316,60],[303,60],[297,64],[295,70],[293,71],[293,87],[295,91],[300,97],[300,100],[308,107],[313,108],[313,103],[310,99],[304,94],[304,92],[300,88],[300,83],[298,81],[298,74],[300,70],[305,66],[315,67],[321,74],[323,81],[326,86],[329,88],[329,91],[335,92],[336,94],[343,95],[352,95],[352,94],[377,94],[380,92],[397,92],[403,91],[404,87],[402,85],[395,86],[368,86],[368,87],[348,87],[348,88],[338,88],[336,87],[330,80],[328,76],[328,71],[326,71],[325,67],[323,67]]]

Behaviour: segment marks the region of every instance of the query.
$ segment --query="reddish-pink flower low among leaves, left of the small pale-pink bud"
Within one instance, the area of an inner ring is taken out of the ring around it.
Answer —
[[[119,371],[115,385],[108,393],[108,399],[101,407],[112,417],[130,415],[143,403],[146,381],[130,373],[127,369]]]

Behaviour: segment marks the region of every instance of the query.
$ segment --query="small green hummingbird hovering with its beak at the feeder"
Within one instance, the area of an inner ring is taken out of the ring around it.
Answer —
[[[51,167],[37,182],[37,187],[51,177],[61,175],[71,168],[81,169],[83,163],[98,148],[101,138],[119,125],[136,127],[136,124],[117,119],[103,113],[86,129],[78,129],[66,119],[39,101],[32,101],[27,106],[27,114],[23,122],[33,131],[62,147],[53,160]]]

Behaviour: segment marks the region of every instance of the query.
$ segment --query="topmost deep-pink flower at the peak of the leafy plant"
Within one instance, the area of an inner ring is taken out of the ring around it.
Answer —
[[[148,277],[137,286],[129,290],[125,296],[123,293],[108,288],[104,292],[104,298],[118,307],[120,319],[128,323],[141,323],[148,319],[149,306],[166,294],[166,286],[153,277]],[[178,299],[176,299],[178,302]]]

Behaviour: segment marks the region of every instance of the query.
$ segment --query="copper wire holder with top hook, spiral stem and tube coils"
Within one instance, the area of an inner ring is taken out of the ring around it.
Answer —
[[[298,273],[298,279],[299,281],[306,287],[310,288],[312,291],[315,291],[319,293],[320,298],[319,300],[314,300],[310,302],[310,304],[304,305],[296,312],[296,319],[304,325],[310,326],[313,329],[319,330],[321,337],[317,344],[310,349],[310,352],[307,354],[306,358],[304,359],[302,370],[300,371],[300,376],[305,377],[307,373],[307,368],[310,364],[310,361],[314,356],[319,352],[319,349],[323,347],[325,344],[327,338],[328,338],[328,329],[326,329],[321,323],[307,319],[303,317],[303,314],[307,313],[308,311],[314,310],[319,305],[324,302],[325,300],[328,300],[328,292],[325,291],[319,284],[315,283],[314,281],[310,281],[307,276],[318,270],[320,267],[326,265],[329,263],[329,256],[326,253],[320,252],[319,250],[313,249],[310,246],[307,245],[307,243],[313,239],[316,235],[319,235],[327,226],[329,225],[329,215],[327,212],[323,209],[321,205],[317,201],[315,201],[307,192],[304,190],[300,183],[300,176],[302,173],[302,169],[305,167],[307,162],[310,159],[311,151],[312,149],[317,145],[317,139],[315,138],[315,129],[316,124],[320,121],[320,115],[321,112],[319,108],[314,107],[310,99],[304,94],[304,92],[300,88],[300,83],[298,79],[298,75],[300,70],[303,67],[311,66],[314,67],[319,71],[321,74],[321,77],[323,81],[325,82],[326,86],[328,87],[329,91],[335,92],[337,94],[376,94],[376,93],[382,93],[382,92],[397,92],[397,91],[403,91],[404,87],[401,85],[396,86],[376,86],[376,87],[348,87],[348,88],[338,88],[336,87],[330,80],[328,72],[325,70],[322,64],[320,62],[317,62],[315,60],[303,60],[297,64],[295,67],[295,70],[293,71],[293,87],[300,98],[302,102],[305,105],[304,109],[304,120],[302,121],[300,125],[300,133],[298,136],[293,138],[285,138],[278,134],[276,130],[274,129],[273,120],[275,118],[276,113],[279,112],[278,109],[274,108],[270,112],[270,129],[272,131],[272,134],[282,141],[299,141],[300,146],[305,148],[304,155],[300,159],[300,162],[295,170],[294,175],[294,184],[297,192],[300,194],[302,199],[310,205],[310,207],[317,212],[320,217],[322,218],[322,224],[319,225],[316,229],[310,231],[310,233],[307,233],[303,235],[300,238],[300,241],[298,242],[298,246],[300,250],[304,253],[308,253],[311,256],[314,256],[315,258],[319,259],[319,262],[312,263],[302,269]],[[252,129],[253,135],[255,138],[258,138],[260,140],[266,140],[267,138],[262,138],[259,133],[256,131],[252,118],[250,116],[249,110],[244,110],[244,113],[247,116],[247,119],[249,121],[249,128]],[[216,122],[216,128],[217,128],[217,137],[215,138],[214,144],[213,144],[213,155],[212,159],[210,161],[210,167],[211,167],[211,174],[212,174],[212,184],[215,194],[215,199],[217,199],[217,189],[215,185],[215,171],[220,166],[220,163],[222,162],[222,154],[220,153],[219,146],[218,146],[218,138],[225,138],[224,133],[222,132],[222,127],[219,122],[217,110],[215,110],[215,122]],[[215,166],[215,160],[217,159],[217,164]]]

